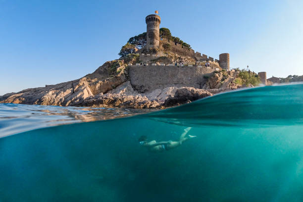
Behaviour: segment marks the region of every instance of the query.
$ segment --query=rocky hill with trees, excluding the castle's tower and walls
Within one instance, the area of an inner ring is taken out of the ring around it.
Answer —
[[[166,29],[166,28],[165,28]],[[169,31],[169,30],[168,30]],[[165,38],[170,32],[162,30]],[[128,77],[128,63],[138,63],[136,53],[165,54],[157,58],[159,63],[194,63],[197,58],[188,54],[190,45],[176,37],[169,36],[174,43],[182,45],[179,49],[171,49],[168,41],[160,43],[158,49],[145,48],[146,34],[130,38],[122,47],[121,57],[107,61],[94,73],[80,79],[40,88],[25,89],[18,93],[8,93],[0,96],[0,103],[42,104],[57,106],[92,106],[92,107],[132,107],[132,108],[162,108],[194,101],[206,96],[212,96],[226,90],[243,87],[246,78],[241,77],[241,71],[215,71],[202,89],[192,87],[175,87],[173,84],[164,89],[140,93],[133,89]],[[180,46],[181,46],[180,45]],[[184,50],[184,51],[183,51]]]

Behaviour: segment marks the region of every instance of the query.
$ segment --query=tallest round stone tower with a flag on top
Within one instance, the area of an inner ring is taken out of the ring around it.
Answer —
[[[152,14],[148,15],[145,18],[147,24],[146,34],[147,34],[147,43],[146,48],[158,48],[160,40],[160,23],[161,18],[158,15]]]

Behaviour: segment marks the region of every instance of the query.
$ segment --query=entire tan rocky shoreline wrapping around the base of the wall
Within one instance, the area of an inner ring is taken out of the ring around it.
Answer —
[[[203,89],[166,87],[138,92],[128,79],[123,60],[105,62],[94,73],[56,85],[31,88],[0,96],[0,103],[57,106],[165,108],[195,101],[222,91],[237,89],[236,74],[214,72]]]

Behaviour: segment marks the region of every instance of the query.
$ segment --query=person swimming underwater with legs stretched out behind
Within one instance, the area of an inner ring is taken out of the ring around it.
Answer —
[[[182,133],[182,135],[180,136],[179,141],[170,140],[167,142],[158,142],[157,143],[155,140],[153,140],[151,142],[148,142],[146,136],[141,136],[139,138],[139,143],[140,143],[140,145],[148,148],[148,150],[151,152],[163,152],[163,151],[171,150],[173,148],[176,148],[176,147],[179,147],[180,145],[182,145],[182,143],[184,141],[197,137],[197,136],[193,136],[193,135],[187,135],[187,137],[185,137],[186,134],[191,129],[192,129],[191,127],[184,129],[184,133]]]

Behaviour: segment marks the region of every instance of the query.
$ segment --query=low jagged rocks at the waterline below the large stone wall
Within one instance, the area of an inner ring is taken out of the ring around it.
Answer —
[[[157,89],[147,94],[133,90],[129,81],[106,94],[97,94],[83,101],[72,103],[72,106],[90,107],[128,107],[128,108],[163,108],[195,101],[212,94],[195,88],[168,87]]]

